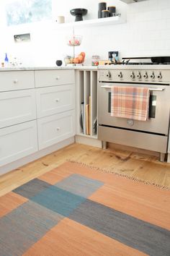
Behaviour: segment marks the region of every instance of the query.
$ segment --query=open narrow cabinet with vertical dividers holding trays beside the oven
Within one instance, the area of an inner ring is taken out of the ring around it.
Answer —
[[[76,70],[76,134],[97,138],[97,70]]]

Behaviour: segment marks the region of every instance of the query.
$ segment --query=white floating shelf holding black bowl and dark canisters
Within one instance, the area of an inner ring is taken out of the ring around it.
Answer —
[[[64,27],[91,27],[91,26],[103,26],[103,25],[117,25],[125,23],[125,18],[121,16],[108,17],[102,19],[94,19],[94,20],[82,20],[79,22],[70,22],[70,23],[62,23],[57,24],[58,28]]]

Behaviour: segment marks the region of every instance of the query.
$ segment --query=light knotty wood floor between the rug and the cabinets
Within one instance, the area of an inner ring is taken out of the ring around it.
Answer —
[[[144,181],[170,187],[170,164],[159,162],[156,156],[73,144],[0,176],[0,195],[6,194],[67,160],[128,174]]]

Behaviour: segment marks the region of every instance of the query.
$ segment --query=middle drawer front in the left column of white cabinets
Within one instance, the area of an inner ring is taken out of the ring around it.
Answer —
[[[0,93],[0,128],[36,119],[35,90]]]

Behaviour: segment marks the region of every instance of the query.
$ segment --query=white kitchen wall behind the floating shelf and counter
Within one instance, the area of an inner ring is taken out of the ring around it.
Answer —
[[[66,45],[66,35],[70,29],[58,30],[55,20],[64,15],[66,22],[74,17],[69,14],[72,8],[86,8],[84,20],[97,18],[97,0],[53,0],[53,22],[37,25],[6,27],[0,22],[0,60],[4,53],[17,56],[27,66],[54,66],[56,59],[64,54],[72,54]],[[4,15],[0,0],[0,14]],[[117,12],[127,12],[127,22],[122,25],[76,28],[75,33],[83,35],[81,46],[76,54],[86,52],[86,64],[91,63],[92,55],[107,59],[108,51],[120,51],[120,56],[170,56],[170,0],[148,0],[134,4],[124,4],[119,0],[107,0],[107,5],[115,5]],[[31,33],[31,43],[14,43],[13,35]]]

